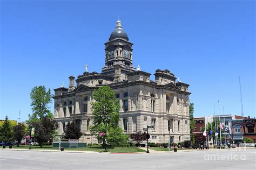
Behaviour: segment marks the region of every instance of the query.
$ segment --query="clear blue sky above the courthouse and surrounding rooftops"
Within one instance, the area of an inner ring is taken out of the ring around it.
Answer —
[[[195,116],[218,100],[221,113],[240,115],[240,76],[245,116],[255,117],[254,1],[1,1],[0,15],[1,119],[21,110],[25,121],[34,86],[53,93],[85,63],[100,73],[118,15],[134,66],[190,84]]]

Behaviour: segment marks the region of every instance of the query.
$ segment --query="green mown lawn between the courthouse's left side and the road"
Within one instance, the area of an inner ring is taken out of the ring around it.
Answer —
[[[8,147],[6,147],[8,148]],[[29,146],[21,145],[19,147],[12,146],[12,148],[18,148],[18,149],[29,149]],[[53,148],[52,146],[43,146],[42,148],[40,146],[31,146],[31,149],[33,150],[59,150],[59,148]],[[90,146],[90,147],[80,147],[80,148],[65,148],[64,151],[94,151],[94,152],[103,152],[104,148],[99,146]],[[138,148],[138,147],[107,147],[107,152],[113,152],[113,153],[133,153],[133,152],[145,152],[144,150]]]

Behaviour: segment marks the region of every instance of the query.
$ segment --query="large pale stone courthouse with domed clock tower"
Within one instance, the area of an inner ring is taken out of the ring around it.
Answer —
[[[150,80],[150,73],[133,66],[132,46],[118,20],[105,43],[102,73],[89,73],[86,69],[82,75],[69,77],[69,88],[55,89],[54,117],[59,125],[59,134],[72,121],[83,133],[79,141],[98,142],[88,129],[92,124],[92,92],[107,85],[119,100],[119,126],[124,133],[136,133],[147,125],[153,125],[154,128],[149,130],[151,142],[167,143],[170,136],[176,143],[190,140],[189,85],[179,79],[176,82],[169,69],[157,69],[155,80]]]

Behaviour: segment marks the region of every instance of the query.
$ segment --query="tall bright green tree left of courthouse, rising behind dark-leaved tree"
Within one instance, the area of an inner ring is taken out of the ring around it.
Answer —
[[[40,121],[43,117],[53,118],[49,110],[49,104],[51,103],[51,90],[46,91],[44,86],[34,87],[31,90],[31,107],[32,115],[29,114],[28,123],[34,123]]]

